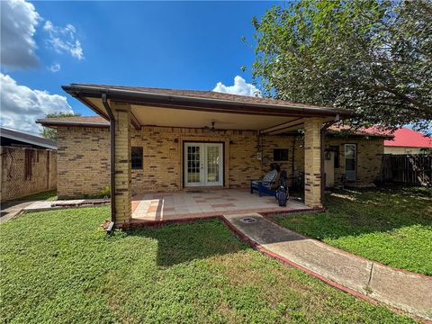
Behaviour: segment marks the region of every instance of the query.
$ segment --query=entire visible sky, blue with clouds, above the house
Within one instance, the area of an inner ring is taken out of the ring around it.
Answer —
[[[275,4],[1,1],[0,124],[39,132],[47,113],[94,114],[70,83],[254,94],[251,21]]]

